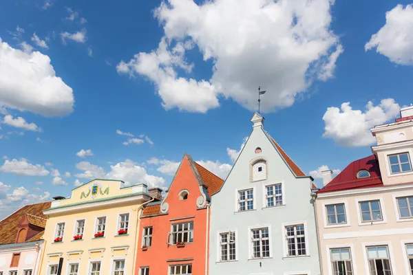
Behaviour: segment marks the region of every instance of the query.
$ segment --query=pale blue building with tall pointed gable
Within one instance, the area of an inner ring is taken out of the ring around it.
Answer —
[[[253,131],[211,204],[210,275],[319,275],[313,179]]]

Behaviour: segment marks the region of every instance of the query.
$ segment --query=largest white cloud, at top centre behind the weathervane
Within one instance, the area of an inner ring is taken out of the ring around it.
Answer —
[[[218,107],[220,98],[257,109],[258,85],[268,91],[263,111],[289,107],[314,80],[333,76],[335,61],[343,52],[330,28],[333,3],[162,1],[155,12],[165,32],[158,49],[139,52],[116,69],[149,78],[167,110],[204,113]],[[211,79],[195,80],[178,73],[191,72],[193,65],[184,54],[193,49],[200,50],[205,62],[212,61]]]

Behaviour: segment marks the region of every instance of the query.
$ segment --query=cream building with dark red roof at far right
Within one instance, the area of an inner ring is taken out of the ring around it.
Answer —
[[[313,194],[324,275],[413,274],[413,107],[371,131],[373,155]]]

